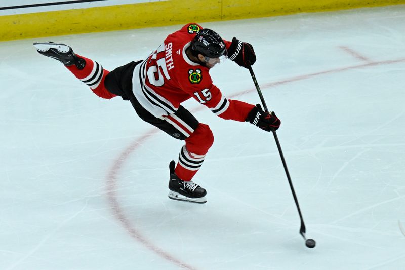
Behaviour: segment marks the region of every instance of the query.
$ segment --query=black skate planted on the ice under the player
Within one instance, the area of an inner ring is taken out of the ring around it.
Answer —
[[[175,162],[169,164],[170,180],[169,180],[169,198],[177,201],[185,201],[191,203],[204,204],[207,202],[205,198],[207,191],[192,181],[181,180],[174,172]]]

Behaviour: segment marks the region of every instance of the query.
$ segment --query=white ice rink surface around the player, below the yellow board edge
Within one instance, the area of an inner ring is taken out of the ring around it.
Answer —
[[[169,200],[183,143],[32,46],[67,43],[112,70],[178,25],[0,43],[0,269],[405,268],[405,7],[203,26],[254,46],[316,248],[271,134],[185,102],[215,135],[194,179],[208,202]],[[212,77],[259,103],[248,70],[227,61]]]

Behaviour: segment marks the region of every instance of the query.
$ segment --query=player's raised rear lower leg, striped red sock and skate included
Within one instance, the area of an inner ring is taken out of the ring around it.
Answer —
[[[77,55],[65,44],[53,42],[34,43],[38,53],[63,63],[77,79],[85,83],[99,97],[111,99],[117,95],[110,93],[104,86],[109,71],[86,57]]]

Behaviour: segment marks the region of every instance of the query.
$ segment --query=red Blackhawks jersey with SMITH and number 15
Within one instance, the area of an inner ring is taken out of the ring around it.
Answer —
[[[213,84],[209,68],[192,62],[185,53],[201,29],[196,23],[183,26],[137,65],[132,80],[134,95],[157,118],[174,113],[181,102],[193,97],[221,118],[245,121],[254,106],[225,98]],[[228,49],[231,43],[224,42]]]

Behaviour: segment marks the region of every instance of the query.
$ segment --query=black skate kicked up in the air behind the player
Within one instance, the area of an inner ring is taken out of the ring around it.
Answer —
[[[72,48],[65,44],[54,42],[35,42],[34,46],[38,53],[54,58],[63,63],[65,66],[76,65],[78,69],[83,69],[86,65],[86,61],[77,57]]]

